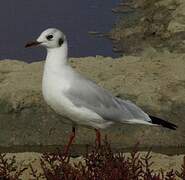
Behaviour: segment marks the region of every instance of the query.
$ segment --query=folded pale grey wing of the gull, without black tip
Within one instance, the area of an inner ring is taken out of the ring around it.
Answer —
[[[90,109],[108,121],[150,121],[148,115],[130,101],[116,98],[93,81],[82,77],[73,82],[65,95],[74,105]]]

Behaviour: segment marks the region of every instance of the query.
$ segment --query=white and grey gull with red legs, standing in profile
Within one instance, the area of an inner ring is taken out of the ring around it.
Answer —
[[[146,124],[175,130],[168,121],[148,115],[129,100],[114,97],[95,82],[75,71],[68,61],[65,34],[49,28],[36,41],[25,47],[43,46],[47,49],[42,79],[42,93],[46,103],[62,117],[72,122],[72,133],[66,146],[67,153],[75,138],[75,127],[82,125],[96,131],[96,142],[101,145],[100,129],[113,124]]]

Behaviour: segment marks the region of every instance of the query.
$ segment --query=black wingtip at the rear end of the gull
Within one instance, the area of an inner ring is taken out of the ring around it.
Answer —
[[[149,116],[150,119],[152,120],[152,123],[153,124],[157,124],[157,125],[160,125],[162,127],[165,127],[165,128],[168,128],[168,129],[172,129],[172,130],[176,130],[177,129],[177,126],[173,123],[170,123],[168,121],[165,121],[163,119],[160,119],[158,117],[155,117],[155,116]]]

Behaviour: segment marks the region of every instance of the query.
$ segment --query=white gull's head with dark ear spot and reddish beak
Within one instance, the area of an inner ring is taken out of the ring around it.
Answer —
[[[44,46],[47,49],[60,48],[66,42],[64,33],[56,28],[46,29],[36,41],[28,42],[25,47]]]

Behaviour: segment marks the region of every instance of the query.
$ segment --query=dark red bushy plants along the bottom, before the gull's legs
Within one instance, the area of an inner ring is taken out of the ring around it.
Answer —
[[[43,173],[38,174],[30,164],[30,180],[185,180],[185,158],[180,171],[155,172],[150,151],[141,156],[137,147],[126,157],[113,153],[105,141],[101,147],[87,152],[84,162],[75,164],[61,151],[44,153],[40,161]],[[19,180],[25,170],[17,167],[15,157],[7,159],[6,154],[0,154],[0,180]]]

